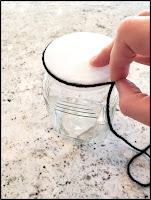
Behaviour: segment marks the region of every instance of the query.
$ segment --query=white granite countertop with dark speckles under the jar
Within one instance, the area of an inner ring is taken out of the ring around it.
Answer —
[[[2,198],[150,199],[127,176],[136,152],[112,133],[103,144],[75,144],[50,127],[41,86],[42,52],[49,42],[76,31],[115,36],[120,22],[149,8],[149,1],[2,2]],[[149,94],[149,67],[132,63],[129,79]],[[149,127],[121,114],[115,130],[138,148]],[[148,182],[149,160],[132,172]]]

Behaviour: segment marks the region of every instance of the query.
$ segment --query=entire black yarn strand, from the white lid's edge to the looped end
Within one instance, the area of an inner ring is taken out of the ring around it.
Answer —
[[[48,45],[49,46],[49,45]],[[47,47],[48,47],[47,46]],[[128,165],[127,165],[127,174],[128,176],[130,177],[130,179],[132,181],[134,181],[135,183],[139,184],[140,186],[142,187],[148,187],[150,186],[150,183],[147,183],[147,184],[144,184],[144,183],[141,183],[139,181],[137,181],[136,179],[134,179],[134,177],[131,175],[131,172],[130,172],[130,165],[132,164],[132,162],[139,156],[145,154],[147,155],[148,157],[150,157],[150,155],[148,153],[146,153],[146,151],[150,148],[150,145],[148,145],[145,149],[138,149],[137,147],[133,146],[131,143],[129,143],[125,138],[123,138],[122,136],[120,136],[119,134],[116,133],[116,131],[113,129],[112,127],[112,124],[111,124],[111,120],[110,120],[110,113],[109,113],[109,104],[110,104],[110,96],[111,96],[111,93],[112,93],[112,89],[115,85],[115,82],[106,82],[106,83],[98,83],[98,84],[90,84],[90,85],[84,85],[84,84],[78,84],[78,83],[70,83],[70,82],[66,82],[65,80],[62,80],[60,78],[58,78],[57,76],[55,76],[53,73],[50,72],[50,70],[47,68],[46,66],[46,63],[44,61],[44,54],[45,54],[45,51],[47,49],[47,47],[45,48],[43,54],[42,54],[42,62],[43,62],[43,65],[46,69],[46,71],[48,72],[48,74],[50,76],[52,76],[54,79],[56,79],[57,81],[65,84],[65,85],[69,85],[69,86],[73,86],[73,87],[79,87],[79,88],[92,88],[92,87],[97,87],[97,86],[103,86],[103,85],[109,85],[111,84],[110,86],[110,89],[109,89],[109,93],[108,93],[108,96],[107,96],[107,104],[106,104],[106,110],[107,110],[107,120],[108,120],[108,124],[109,124],[109,127],[110,127],[110,130],[112,131],[112,133],[120,138],[121,140],[123,140],[126,144],[128,144],[130,147],[132,147],[133,149],[135,149],[136,151],[139,151],[140,153],[136,154],[134,157],[131,158],[131,160],[129,161]]]

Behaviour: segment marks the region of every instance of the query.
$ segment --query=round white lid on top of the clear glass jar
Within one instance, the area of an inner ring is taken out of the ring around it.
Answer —
[[[44,50],[44,67],[51,77],[69,86],[86,88],[109,84],[109,65],[93,67],[89,60],[111,41],[105,35],[91,32],[64,35]]]

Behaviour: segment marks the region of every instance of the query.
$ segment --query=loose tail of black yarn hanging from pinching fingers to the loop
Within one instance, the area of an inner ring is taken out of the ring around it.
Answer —
[[[137,183],[137,184],[139,184],[140,186],[143,186],[143,187],[148,187],[148,186],[150,186],[150,183],[147,183],[147,184],[141,183],[141,182],[137,181],[137,180],[131,175],[130,165],[133,163],[133,161],[134,161],[137,157],[139,157],[139,156],[141,156],[141,155],[143,155],[143,154],[145,154],[145,155],[147,155],[148,157],[150,157],[150,155],[149,155],[148,153],[146,153],[146,151],[150,148],[150,145],[148,145],[148,146],[147,146],[146,148],[144,148],[144,149],[138,149],[138,148],[136,148],[135,146],[133,146],[132,144],[130,144],[125,138],[123,138],[122,136],[118,135],[118,134],[116,133],[116,131],[113,129],[112,124],[111,124],[111,120],[110,120],[109,105],[110,105],[110,96],[111,96],[112,89],[113,89],[114,85],[115,85],[115,82],[112,82],[112,83],[111,83],[111,86],[110,86],[110,89],[109,89],[108,97],[107,97],[106,110],[107,110],[107,120],[108,120],[108,124],[109,124],[110,130],[112,131],[112,133],[113,133],[114,135],[116,135],[118,138],[120,138],[121,140],[123,140],[126,144],[128,144],[129,146],[131,146],[133,149],[135,149],[135,150],[137,150],[137,151],[140,152],[140,153],[136,154],[135,156],[133,156],[133,157],[131,158],[131,160],[129,161],[129,163],[128,163],[128,165],[127,165],[127,174],[128,174],[128,176],[131,178],[131,180],[133,180],[135,183]]]

